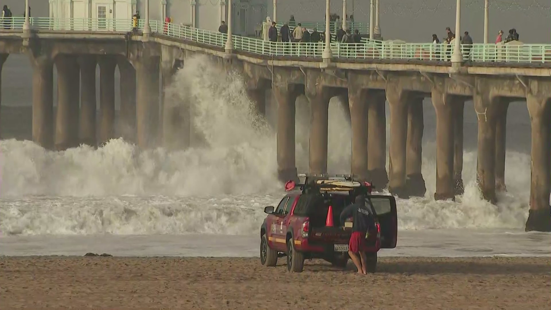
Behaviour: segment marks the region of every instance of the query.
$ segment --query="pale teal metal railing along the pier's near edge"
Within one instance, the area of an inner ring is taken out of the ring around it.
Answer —
[[[0,18],[0,32],[20,32],[23,17]],[[132,20],[99,18],[30,18],[33,31],[109,31],[127,33],[133,31]],[[143,30],[145,20],[139,20],[136,30]],[[306,23],[303,23],[305,25]],[[314,24],[306,24],[312,26]],[[152,32],[174,39],[199,44],[224,47],[228,36],[216,31],[197,29],[191,26],[150,20]],[[325,26],[325,25],[323,25]],[[322,24],[320,24],[322,28]],[[305,60],[321,58],[323,42],[269,42],[258,38],[234,35],[234,50],[269,57],[304,57]],[[467,62],[550,63],[551,44],[471,44],[461,45],[463,60]],[[365,40],[358,44],[333,42],[334,58],[357,60],[418,60],[450,61],[453,47],[447,44],[396,43],[392,41]]]

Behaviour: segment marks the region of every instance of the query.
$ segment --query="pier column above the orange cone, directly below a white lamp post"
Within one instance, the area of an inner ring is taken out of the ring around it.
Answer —
[[[329,87],[306,85],[310,101],[309,173],[327,173],[327,131],[329,100],[333,92]]]

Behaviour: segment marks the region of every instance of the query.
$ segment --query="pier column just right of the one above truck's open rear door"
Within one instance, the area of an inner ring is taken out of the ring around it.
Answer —
[[[426,192],[421,172],[423,152],[423,97],[412,97],[408,104],[406,144],[406,188],[409,196],[423,197]]]

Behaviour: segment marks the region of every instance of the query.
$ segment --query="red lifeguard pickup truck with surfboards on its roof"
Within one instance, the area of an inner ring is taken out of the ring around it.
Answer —
[[[320,258],[345,268],[348,263],[348,241],[352,218],[339,223],[341,211],[356,195],[366,196],[365,206],[375,223],[368,232],[368,271],[375,272],[379,249],[396,247],[397,213],[393,196],[371,195],[373,186],[355,181],[352,175],[328,177],[306,175],[301,184],[288,181],[288,194],[278,206],[264,208],[268,214],[260,227],[260,261],[275,266],[287,256],[287,270],[301,272],[305,259]]]

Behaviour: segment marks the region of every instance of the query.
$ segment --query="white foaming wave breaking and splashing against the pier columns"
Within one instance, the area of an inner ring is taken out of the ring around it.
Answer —
[[[122,139],[104,147],[46,151],[30,141],[0,141],[0,230],[3,234],[253,234],[263,207],[277,204],[273,105],[253,113],[244,81],[197,57],[170,89],[175,103],[195,111],[203,145],[185,151],[140,151]],[[296,158],[307,169],[309,104],[296,103]],[[430,130],[425,125],[425,131]],[[333,98],[329,105],[330,172],[350,169],[350,125]],[[468,138],[468,137],[467,137]],[[398,200],[399,228],[521,228],[530,194],[530,156],[507,152],[506,180],[514,183],[498,205],[480,200],[474,184],[476,152],[464,153],[466,193],[434,201],[435,146],[424,143],[425,197]]]

